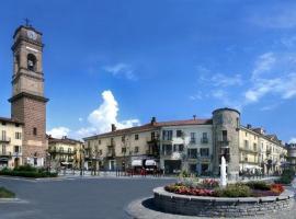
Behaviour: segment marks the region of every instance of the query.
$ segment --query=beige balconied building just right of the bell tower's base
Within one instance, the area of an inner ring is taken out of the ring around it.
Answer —
[[[83,154],[81,154],[83,143],[81,141],[67,138],[61,139],[47,136],[48,139],[48,165],[50,169],[60,168],[80,169],[83,163]]]

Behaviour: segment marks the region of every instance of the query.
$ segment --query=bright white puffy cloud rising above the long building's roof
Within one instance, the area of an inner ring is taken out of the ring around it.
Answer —
[[[88,116],[90,127],[81,128],[77,131],[79,136],[87,137],[89,135],[106,132],[111,130],[111,124],[115,124],[117,128],[128,128],[140,124],[139,119],[132,118],[119,122],[118,103],[111,91],[102,93],[103,103]]]

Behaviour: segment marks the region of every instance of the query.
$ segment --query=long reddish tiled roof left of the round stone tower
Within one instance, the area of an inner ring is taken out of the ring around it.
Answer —
[[[156,123],[145,124],[143,126],[135,126],[132,128],[117,129],[114,131],[90,136],[83,139],[92,139],[92,138],[98,138],[98,137],[110,137],[110,136],[125,135],[129,132],[153,130],[156,128],[166,127],[166,126],[210,125],[210,124],[213,124],[212,119],[187,119],[187,120],[172,120],[172,122],[160,122],[160,123],[156,122]]]

